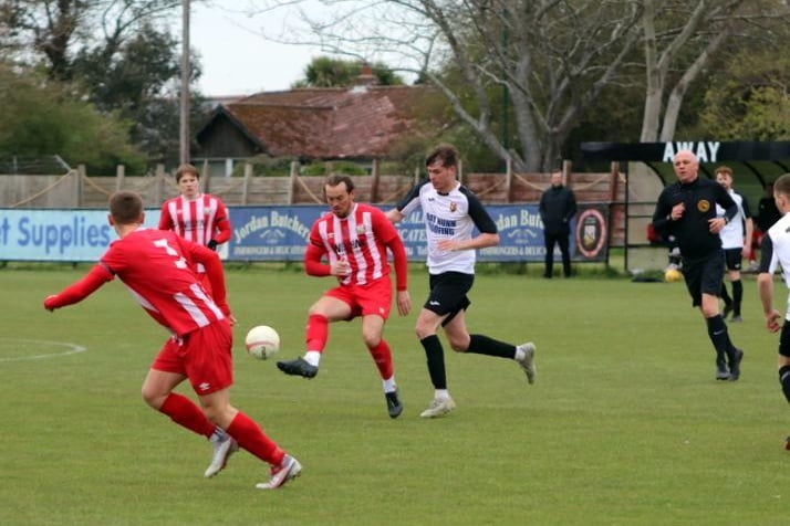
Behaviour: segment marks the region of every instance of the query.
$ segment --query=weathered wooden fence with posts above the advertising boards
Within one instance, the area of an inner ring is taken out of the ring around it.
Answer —
[[[607,173],[574,173],[565,166],[566,186],[579,202],[610,206],[610,245],[624,243],[624,176],[616,165]],[[550,186],[550,173],[465,173],[461,182],[487,204],[536,203]],[[304,177],[292,168],[287,177],[253,177],[251,167],[238,178],[201,178],[202,190],[218,196],[227,206],[322,203],[324,177]],[[394,204],[412,188],[417,175],[352,176],[360,202]],[[178,196],[175,178],[164,168],[147,177],[125,177],[123,167],[115,176],[87,177],[83,168],[61,176],[0,175],[0,208],[105,208],[117,190],[143,196],[146,207],[158,208]]]

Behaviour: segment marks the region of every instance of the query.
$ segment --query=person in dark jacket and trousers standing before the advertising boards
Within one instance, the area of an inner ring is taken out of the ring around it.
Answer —
[[[573,191],[562,185],[562,172],[551,175],[551,187],[540,198],[540,219],[543,221],[543,240],[545,242],[545,270],[543,277],[553,275],[554,244],[560,245],[562,253],[562,272],[571,277],[571,254],[569,238],[571,219],[576,214],[576,198]]]

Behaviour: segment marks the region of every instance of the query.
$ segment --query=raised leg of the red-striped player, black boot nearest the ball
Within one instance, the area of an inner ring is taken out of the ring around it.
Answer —
[[[329,340],[329,324],[340,319],[349,319],[352,306],[343,297],[344,291],[339,287],[329,291],[308,311],[305,329],[306,349],[304,356],[294,360],[278,361],[277,367],[285,375],[314,378],[319,374],[321,355]]]

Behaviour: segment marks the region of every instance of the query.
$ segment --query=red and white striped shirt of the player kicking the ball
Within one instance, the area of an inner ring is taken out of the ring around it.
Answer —
[[[394,242],[399,242],[399,236],[384,212],[368,204],[355,203],[345,218],[330,212],[313,223],[308,253],[320,252],[316,254],[319,260],[326,255],[330,265],[342,259],[347,260],[351,273],[341,278],[341,284],[364,285],[389,274],[387,245]]]

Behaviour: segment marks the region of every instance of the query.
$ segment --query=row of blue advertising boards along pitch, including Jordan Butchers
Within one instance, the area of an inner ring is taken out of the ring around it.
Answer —
[[[500,243],[479,251],[484,262],[543,261],[542,222],[537,204],[490,204],[487,210],[499,229]],[[227,261],[302,261],[310,228],[325,206],[229,207],[232,235],[219,248]],[[145,225],[156,228],[159,210],[147,210]],[[409,261],[427,256],[422,210],[397,224]],[[609,209],[580,204],[571,225],[571,257],[605,261]],[[114,230],[103,210],[0,210],[0,260],[96,261]],[[559,254],[558,254],[559,255]]]

